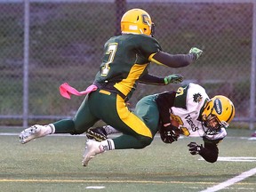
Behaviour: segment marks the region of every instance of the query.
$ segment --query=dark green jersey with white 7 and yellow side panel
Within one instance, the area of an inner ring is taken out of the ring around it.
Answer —
[[[110,92],[130,97],[140,76],[147,72],[149,57],[162,50],[155,38],[125,34],[111,37],[104,45],[100,71],[94,83]]]

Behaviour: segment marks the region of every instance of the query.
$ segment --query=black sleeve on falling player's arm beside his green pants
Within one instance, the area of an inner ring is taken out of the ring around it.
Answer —
[[[162,124],[171,123],[170,108],[172,108],[176,92],[162,92],[156,97],[156,104]]]

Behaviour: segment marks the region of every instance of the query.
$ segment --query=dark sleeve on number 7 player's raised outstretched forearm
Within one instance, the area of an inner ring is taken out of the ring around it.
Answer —
[[[167,52],[156,52],[149,57],[150,61],[159,65],[165,65],[170,68],[182,68],[188,66],[196,57],[190,54],[169,54]]]

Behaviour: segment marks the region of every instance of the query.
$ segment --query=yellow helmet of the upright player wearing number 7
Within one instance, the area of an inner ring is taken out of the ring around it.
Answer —
[[[155,25],[148,12],[141,9],[132,9],[125,12],[121,19],[121,31],[123,34],[154,35]]]

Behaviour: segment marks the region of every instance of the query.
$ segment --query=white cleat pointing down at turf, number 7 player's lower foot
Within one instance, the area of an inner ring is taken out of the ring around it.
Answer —
[[[100,144],[100,142],[95,140],[87,140],[84,156],[83,156],[83,165],[87,166],[89,161],[96,156],[97,154],[103,153],[105,150],[103,149],[103,146]]]

